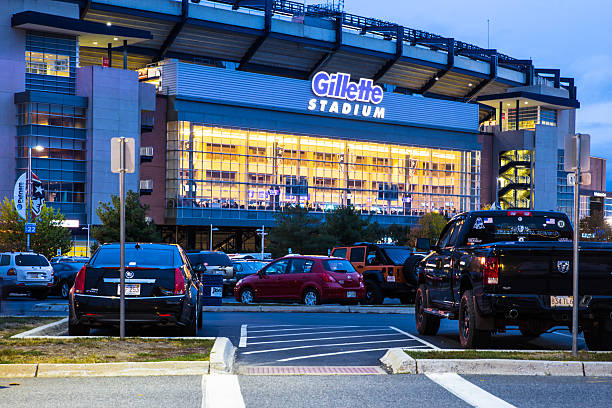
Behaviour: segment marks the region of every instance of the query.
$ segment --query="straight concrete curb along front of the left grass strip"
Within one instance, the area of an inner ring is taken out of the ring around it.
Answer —
[[[0,364],[0,378],[142,377],[207,374],[208,361],[159,361],[94,364]]]

